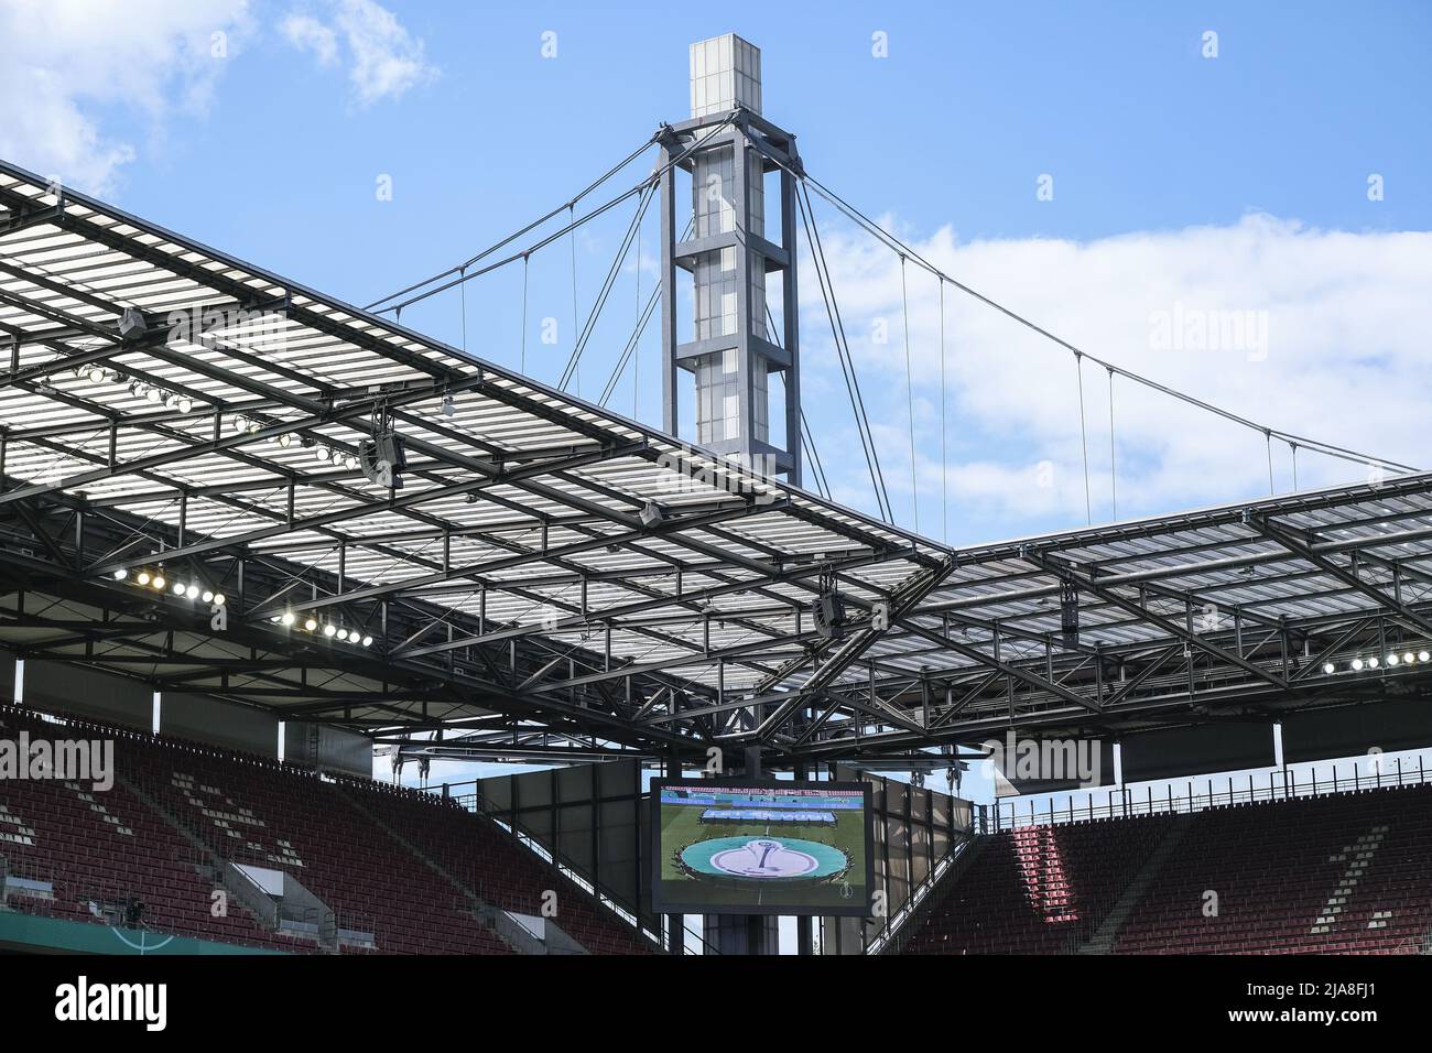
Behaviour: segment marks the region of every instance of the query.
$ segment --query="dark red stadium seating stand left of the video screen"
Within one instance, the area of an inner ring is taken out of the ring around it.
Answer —
[[[24,709],[0,708],[0,735],[60,736],[57,725]],[[120,778],[106,794],[56,781],[0,782],[0,855],[54,881],[53,903],[16,900],[19,910],[84,920],[95,895],[135,897],[159,931],[315,950],[242,908],[212,918],[213,885],[195,864],[218,857],[292,874],[335,911],[339,930],[371,933],[379,953],[510,953],[480,920],[474,895],[536,915],[548,890],[557,894],[553,921],[587,951],[654,950],[490,819],[432,794],[319,779],[263,758],[80,721],[64,725],[63,736],[113,738]],[[6,840],[21,830],[33,834]]]

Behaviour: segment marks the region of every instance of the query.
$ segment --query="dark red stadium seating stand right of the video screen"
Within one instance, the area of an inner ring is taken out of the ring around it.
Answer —
[[[1120,954],[1409,954],[1432,928],[1432,787],[1209,808],[1130,894]],[[904,953],[1077,950],[1173,830],[1173,815],[990,835]],[[1207,907],[1214,904],[1216,913]],[[1111,923],[1113,927],[1113,923]]]

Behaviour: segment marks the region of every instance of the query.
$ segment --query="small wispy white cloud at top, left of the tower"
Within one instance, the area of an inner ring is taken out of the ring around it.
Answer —
[[[335,64],[344,50],[348,79],[361,106],[397,99],[437,77],[437,67],[424,59],[422,40],[408,33],[382,4],[328,0],[326,6],[328,21],[289,14],[282,23],[284,36],[295,47],[312,52],[322,66]]]

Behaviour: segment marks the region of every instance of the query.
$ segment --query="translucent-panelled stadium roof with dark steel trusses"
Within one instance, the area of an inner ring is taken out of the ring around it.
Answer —
[[[474,755],[1246,716],[1432,639],[1432,476],[952,552],[4,163],[0,355],[0,643]]]

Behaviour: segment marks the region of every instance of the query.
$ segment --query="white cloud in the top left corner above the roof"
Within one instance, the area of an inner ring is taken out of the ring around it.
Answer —
[[[202,113],[246,26],[248,0],[6,0],[0,4],[0,156],[99,193],[112,192],[132,143],[95,112],[139,113],[153,129]],[[225,34],[225,56],[215,34]]]

